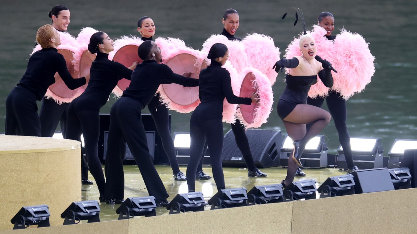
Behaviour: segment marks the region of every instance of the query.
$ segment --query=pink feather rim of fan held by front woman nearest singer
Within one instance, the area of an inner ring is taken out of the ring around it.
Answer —
[[[246,122],[240,108],[236,111],[236,117],[242,122],[242,124],[244,124],[245,129],[261,127],[262,124],[266,123],[269,118],[269,114],[272,111],[272,104],[274,103],[274,95],[272,92],[271,82],[269,82],[268,77],[254,67],[246,67],[240,74],[242,77],[241,80],[243,80],[243,77],[245,77],[245,75],[249,72],[252,72],[256,78],[252,82],[252,85],[255,89],[257,89],[256,94],[259,96],[259,102],[258,106],[255,108],[252,123]]]

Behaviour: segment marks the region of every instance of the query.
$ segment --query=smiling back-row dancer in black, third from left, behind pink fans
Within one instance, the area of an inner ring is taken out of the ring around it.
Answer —
[[[234,34],[236,30],[239,27],[239,15],[236,10],[234,9],[228,9],[223,15],[223,32],[221,32],[221,35],[224,35],[229,40],[239,40],[241,41],[239,37],[235,37]],[[236,120],[236,123],[231,124],[231,129],[233,131],[233,134],[235,136],[236,145],[239,148],[243,158],[245,159],[246,166],[248,167],[248,176],[249,177],[267,177],[268,175],[264,172],[261,172],[259,170],[255,163],[254,158],[251,153],[251,147],[249,146],[248,137],[245,133],[245,127],[240,122],[239,119]],[[205,150],[203,151],[203,157],[201,158],[200,164],[197,168],[197,178],[198,179],[209,179],[207,174],[203,172],[203,158],[206,153],[207,147],[205,147]],[[211,152],[211,151],[210,151]]]

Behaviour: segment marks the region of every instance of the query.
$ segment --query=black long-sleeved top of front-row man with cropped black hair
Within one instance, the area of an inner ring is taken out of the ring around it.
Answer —
[[[123,97],[131,97],[142,103],[142,108],[151,102],[161,84],[176,83],[187,87],[198,86],[198,79],[175,74],[165,64],[155,60],[146,60],[133,70],[132,81],[123,92]]]

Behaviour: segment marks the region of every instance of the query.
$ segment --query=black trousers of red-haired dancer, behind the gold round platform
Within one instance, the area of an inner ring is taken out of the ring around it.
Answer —
[[[6,99],[6,135],[40,137],[40,120],[35,94],[14,87]]]

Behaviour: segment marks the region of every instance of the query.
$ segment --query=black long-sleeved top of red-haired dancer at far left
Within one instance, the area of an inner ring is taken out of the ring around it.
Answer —
[[[64,56],[58,53],[57,49],[50,47],[36,51],[30,56],[25,75],[17,86],[32,91],[36,100],[40,101],[48,87],[55,83],[56,72],[70,90],[85,85],[85,77],[74,79],[68,72]]]

